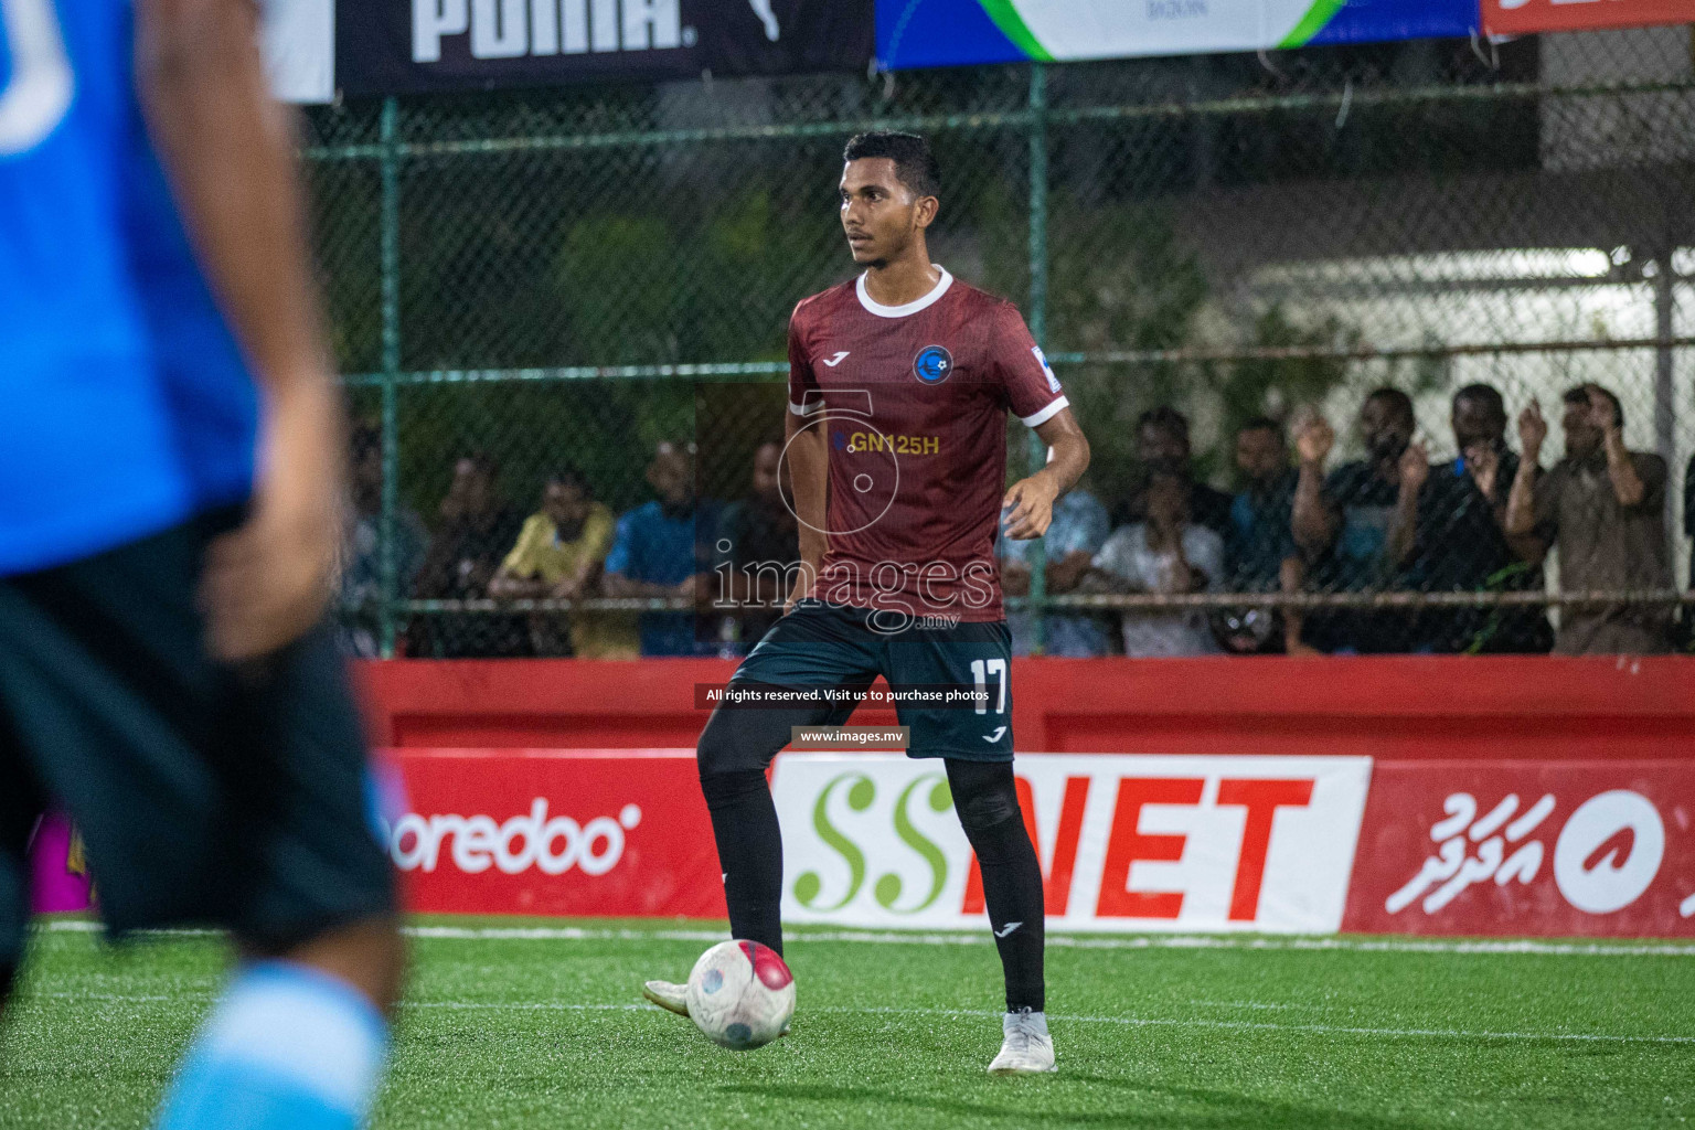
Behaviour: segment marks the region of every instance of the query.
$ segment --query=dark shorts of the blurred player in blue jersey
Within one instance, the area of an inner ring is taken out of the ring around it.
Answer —
[[[61,805],[115,933],[217,925],[264,950],[392,913],[361,718],[329,627],[232,669],[195,591],[224,512],[0,578],[0,966],[27,840]]]

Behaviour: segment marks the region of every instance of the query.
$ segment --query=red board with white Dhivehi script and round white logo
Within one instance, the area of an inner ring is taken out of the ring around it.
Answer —
[[[1380,762],[1342,930],[1695,935],[1695,766]]]

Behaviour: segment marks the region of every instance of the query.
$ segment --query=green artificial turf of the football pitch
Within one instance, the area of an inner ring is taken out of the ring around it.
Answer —
[[[558,933],[564,923],[427,925]],[[637,996],[644,978],[681,979],[703,940],[663,937],[670,923],[571,925],[588,937],[415,940],[378,1127],[1353,1130],[1695,1118],[1695,947],[1056,945],[1049,1015],[1061,1071],[993,1079],[983,1067],[1000,1045],[1000,976],[986,940],[797,932],[793,1035],[737,1054]],[[0,1127],[144,1127],[225,961],[203,937],[114,954],[86,932],[39,933],[0,1037]]]

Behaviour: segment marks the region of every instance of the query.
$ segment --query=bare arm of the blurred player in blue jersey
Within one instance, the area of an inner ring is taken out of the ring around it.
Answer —
[[[214,654],[253,659],[324,612],[344,474],[293,134],[266,86],[251,0],[137,0],[136,83],[200,264],[263,391],[253,508],[214,544],[202,591]]]

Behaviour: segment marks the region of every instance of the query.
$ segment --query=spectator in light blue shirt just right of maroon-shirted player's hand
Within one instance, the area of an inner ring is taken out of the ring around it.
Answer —
[[[1042,535],[1042,554],[1048,566],[1042,579],[1049,596],[1076,591],[1088,573],[1095,554],[1107,542],[1112,523],[1107,508],[1100,505],[1081,483],[1054,503],[1053,523]],[[1027,596],[1031,591],[1031,547],[1036,539],[1014,540],[1007,537],[1005,522],[1000,527],[1000,588],[1007,596]],[[1036,617],[1029,612],[1009,612],[1007,629],[1012,632],[1012,654],[1029,656],[1036,642]],[[1042,654],[1059,659],[1090,659],[1110,651],[1107,629],[1098,615],[1078,612],[1049,612],[1042,625]]]

